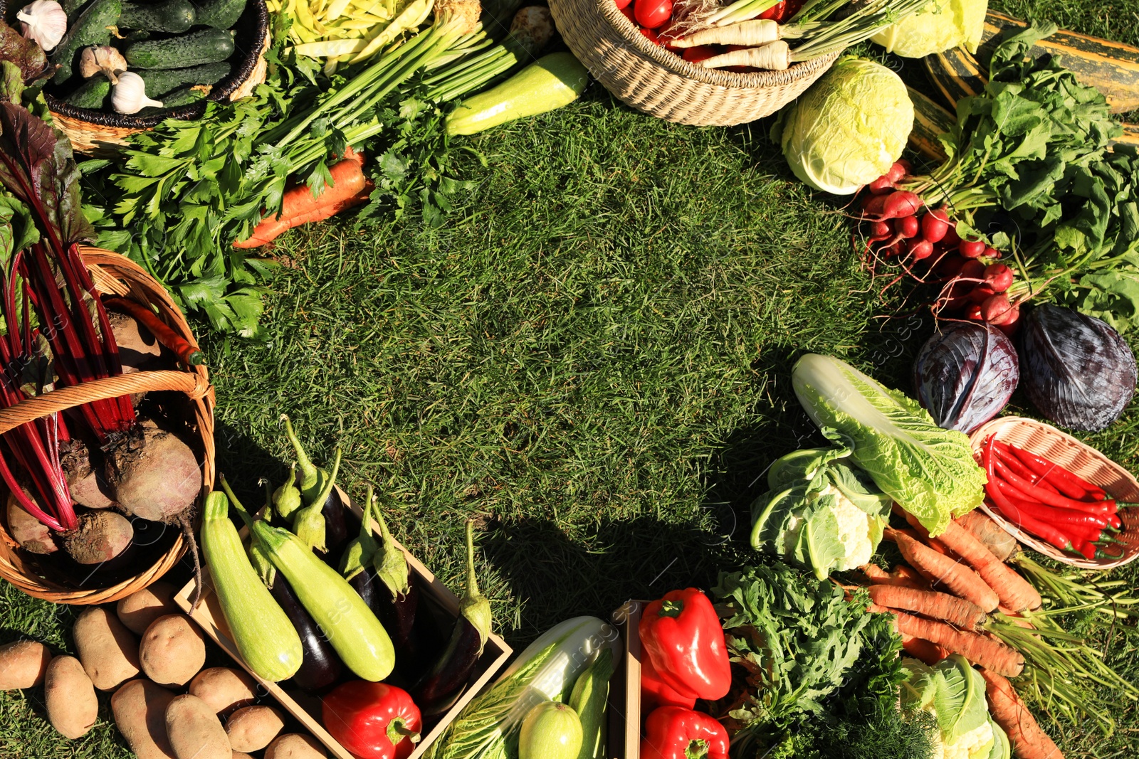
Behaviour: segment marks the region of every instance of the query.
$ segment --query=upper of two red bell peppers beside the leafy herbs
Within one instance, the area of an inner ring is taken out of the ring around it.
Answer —
[[[638,628],[644,658],[682,696],[715,701],[731,690],[723,627],[702,591],[672,591],[645,607]]]

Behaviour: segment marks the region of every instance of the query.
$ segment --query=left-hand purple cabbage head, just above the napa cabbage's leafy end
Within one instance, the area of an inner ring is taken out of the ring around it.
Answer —
[[[1019,377],[1013,341],[980,322],[941,322],[913,362],[918,402],[939,427],[966,434],[1000,413]]]

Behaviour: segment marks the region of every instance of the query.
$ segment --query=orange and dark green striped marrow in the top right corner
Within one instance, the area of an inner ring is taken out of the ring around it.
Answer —
[[[1001,32],[1023,28],[1026,24],[1002,14],[985,14],[985,30],[977,58],[988,64],[1003,36]],[[1033,46],[1031,55],[1060,56],[1081,84],[1095,86],[1107,98],[1112,113],[1139,109],[1139,48],[1122,42],[1101,40],[1087,34],[1060,30]]]

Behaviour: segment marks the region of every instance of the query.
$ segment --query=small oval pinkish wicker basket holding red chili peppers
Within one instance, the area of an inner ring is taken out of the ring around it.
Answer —
[[[1139,481],[1128,470],[1096,451],[1084,445],[1071,435],[1066,435],[1050,424],[1022,416],[1001,416],[983,424],[969,436],[973,454],[981,460],[981,447],[985,438],[995,435],[998,440],[1031,451],[1042,459],[1054,461],[1068,471],[1079,475],[1089,482],[1104,488],[1108,495],[1120,502],[1139,502]],[[1104,559],[1084,559],[1039,541],[1024,533],[1016,525],[989,508],[988,501],[981,505],[982,511],[1021,543],[1034,551],[1051,556],[1073,567],[1084,569],[1112,569],[1121,567],[1139,556],[1139,508],[1129,506],[1120,510],[1123,529],[1116,536],[1124,545],[1116,545],[1108,551],[1114,555]]]

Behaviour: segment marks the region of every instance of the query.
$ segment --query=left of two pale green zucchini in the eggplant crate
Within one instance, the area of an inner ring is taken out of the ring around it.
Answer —
[[[230,637],[245,665],[274,683],[295,675],[304,657],[301,636],[249,563],[229,519],[229,500],[218,490],[206,496],[203,509],[202,553]]]

